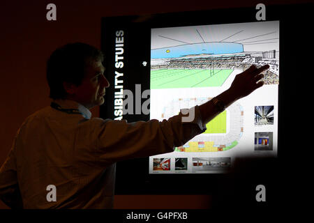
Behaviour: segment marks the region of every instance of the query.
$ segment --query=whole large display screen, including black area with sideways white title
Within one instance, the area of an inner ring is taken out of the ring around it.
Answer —
[[[270,66],[264,86],[227,107],[174,152],[119,161],[118,193],[207,193],[234,173],[274,170],[287,143],[283,87],[289,79],[283,74],[290,72],[290,54],[283,46],[291,42],[290,26],[276,7],[268,8],[266,21],[257,21],[255,13],[242,8],[103,18],[101,49],[110,88],[101,118],[163,121],[216,97],[251,65]],[[181,180],[185,186],[178,190]],[[211,189],[195,185],[198,180]]]

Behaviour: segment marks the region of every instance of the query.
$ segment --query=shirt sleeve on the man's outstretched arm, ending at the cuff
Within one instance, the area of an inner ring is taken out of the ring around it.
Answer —
[[[96,155],[102,163],[170,153],[206,130],[197,106],[167,121],[107,120],[98,125]]]

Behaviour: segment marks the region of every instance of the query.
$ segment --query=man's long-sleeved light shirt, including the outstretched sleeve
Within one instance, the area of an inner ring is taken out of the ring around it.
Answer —
[[[91,118],[71,100],[55,100],[68,114],[45,107],[18,130],[0,169],[0,198],[20,208],[112,208],[115,163],[170,153],[206,130],[195,107],[192,122],[182,114],[168,121],[112,121]],[[48,185],[57,201],[47,201]]]

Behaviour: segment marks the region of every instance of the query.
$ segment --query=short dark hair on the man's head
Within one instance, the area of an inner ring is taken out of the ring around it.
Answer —
[[[103,61],[103,53],[86,43],[69,43],[52,52],[47,61],[47,82],[50,98],[64,99],[63,82],[79,86],[85,75],[85,67],[91,61]]]

